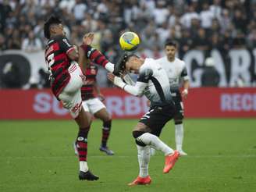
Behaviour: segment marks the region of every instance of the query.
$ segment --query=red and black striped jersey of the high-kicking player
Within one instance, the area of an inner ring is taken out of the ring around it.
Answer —
[[[58,98],[66,84],[69,83],[69,66],[71,60],[68,53],[74,49],[66,37],[56,36],[49,39],[44,56],[48,70],[52,73],[52,92]]]

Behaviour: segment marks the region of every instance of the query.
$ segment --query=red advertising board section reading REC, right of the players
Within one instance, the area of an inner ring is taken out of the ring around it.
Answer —
[[[187,117],[256,117],[256,89],[194,88],[184,106]]]

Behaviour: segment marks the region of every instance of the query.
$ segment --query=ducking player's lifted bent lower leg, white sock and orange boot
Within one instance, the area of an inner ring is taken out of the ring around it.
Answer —
[[[169,148],[167,144],[162,142],[157,136],[151,133],[145,133],[142,131],[133,131],[133,137],[137,141],[140,141],[144,144],[149,145],[152,148],[162,151],[165,154],[165,167],[163,169],[164,173],[169,172],[170,169],[175,165],[180,154],[178,151],[173,151],[172,148]]]

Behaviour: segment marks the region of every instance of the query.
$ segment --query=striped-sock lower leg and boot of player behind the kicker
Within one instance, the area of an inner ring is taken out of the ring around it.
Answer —
[[[107,155],[114,155],[114,151],[110,150],[107,146],[108,137],[111,130],[111,123],[112,123],[112,120],[104,121],[103,128],[102,128],[100,151],[105,152]]]

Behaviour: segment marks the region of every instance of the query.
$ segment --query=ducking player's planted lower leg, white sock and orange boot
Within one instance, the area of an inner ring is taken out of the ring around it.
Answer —
[[[137,143],[138,150],[138,162],[140,165],[139,176],[132,183],[129,183],[129,186],[134,185],[148,185],[151,183],[151,177],[148,175],[148,164],[150,160],[150,147],[149,146],[140,146]]]

